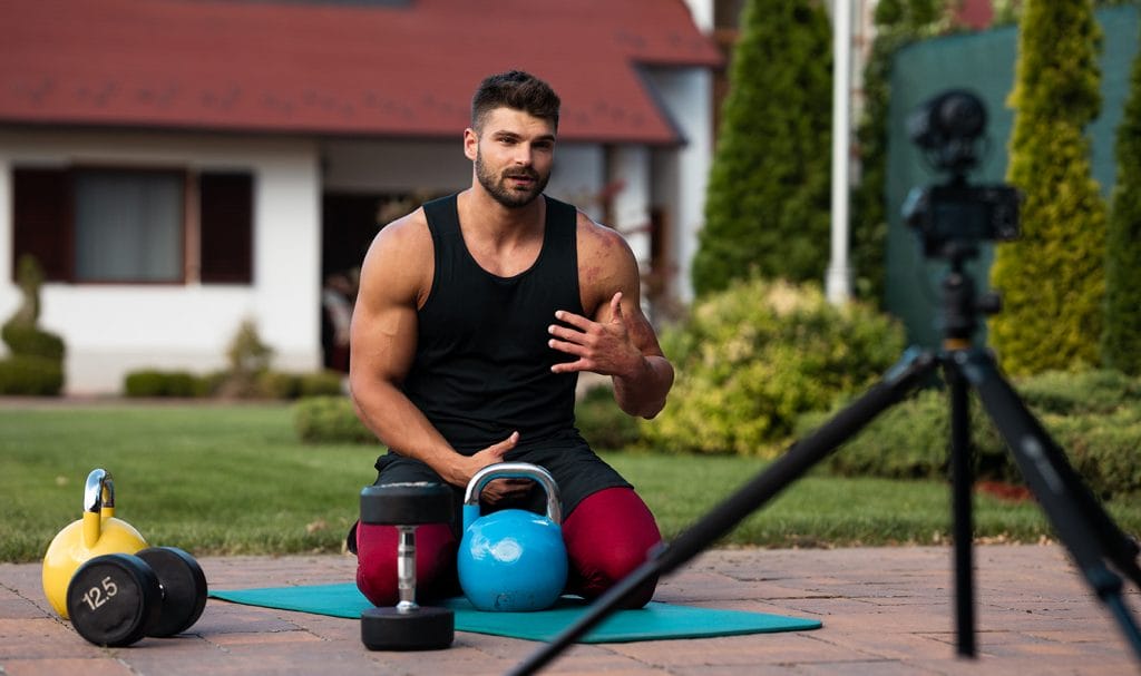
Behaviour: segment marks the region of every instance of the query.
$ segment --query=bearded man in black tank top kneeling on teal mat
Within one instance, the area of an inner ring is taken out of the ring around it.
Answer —
[[[665,405],[673,367],[639,307],[622,237],[543,194],[559,98],[527,73],[484,80],[463,152],[471,187],[385,227],[365,255],[353,316],[349,382],[361,420],[389,447],[377,483],[443,481],[528,462],[555,477],[570,564],[567,591],[598,596],[661,541],[633,488],[574,429],[580,372],[612,377],[630,415]],[[527,480],[491,482],[492,508],[534,504]],[[416,530],[421,596],[455,591],[458,523]],[[394,527],[350,534],[357,585],[397,600]],[[648,585],[633,600],[644,605]]]

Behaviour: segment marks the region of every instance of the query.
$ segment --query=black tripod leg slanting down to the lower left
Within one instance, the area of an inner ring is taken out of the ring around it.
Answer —
[[[908,351],[871,390],[826,422],[816,432],[794,443],[780,458],[752,479],[721,504],[690,526],[669,546],[659,548],[608,592],[594,600],[591,608],[540,648],[510,674],[534,674],[560,652],[606,619],[630,594],[654,575],[665,575],[729,532],[742,519],[775,497],[860,431],[876,415],[908,394],[938,365],[928,352]]]

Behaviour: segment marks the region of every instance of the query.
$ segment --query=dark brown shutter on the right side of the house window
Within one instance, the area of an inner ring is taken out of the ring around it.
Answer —
[[[253,283],[253,177],[199,177],[203,284]]]

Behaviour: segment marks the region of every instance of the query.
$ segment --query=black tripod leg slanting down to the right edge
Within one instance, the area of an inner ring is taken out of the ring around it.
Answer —
[[[1114,612],[1122,632],[1141,659],[1141,630],[1122,600],[1122,578],[1104,563],[1108,557],[1118,570],[1136,580],[1135,543],[1098,504],[1062,449],[1000,375],[990,356],[973,352],[961,367],[1006,440],[1059,539],[1069,549],[1098,597]]]

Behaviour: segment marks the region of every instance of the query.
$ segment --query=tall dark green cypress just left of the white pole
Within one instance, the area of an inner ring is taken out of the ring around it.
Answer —
[[[694,256],[698,295],[759,274],[820,280],[830,251],[831,27],[818,2],[748,0]]]

